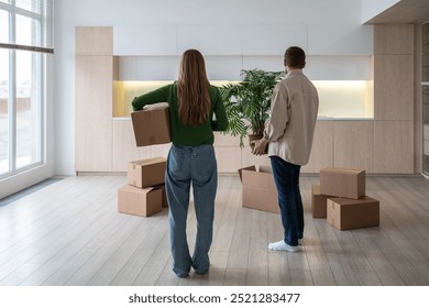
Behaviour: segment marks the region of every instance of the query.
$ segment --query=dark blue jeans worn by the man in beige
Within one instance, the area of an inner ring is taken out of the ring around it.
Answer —
[[[285,230],[284,241],[290,246],[297,246],[298,239],[302,239],[304,235],[304,210],[299,190],[300,166],[278,156],[271,156],[270,160]]]

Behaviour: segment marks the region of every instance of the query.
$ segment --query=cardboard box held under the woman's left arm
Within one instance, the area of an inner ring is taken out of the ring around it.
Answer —
[[[138,146],[172,142],[168,105],[143,108],[131,113]]]

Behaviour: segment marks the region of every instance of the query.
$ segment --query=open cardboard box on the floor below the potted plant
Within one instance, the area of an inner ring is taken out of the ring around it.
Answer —
[[[243,185],[242,206],[262,211],[279,213],[277,189],[270,166],[255,166],[239,169]]]

